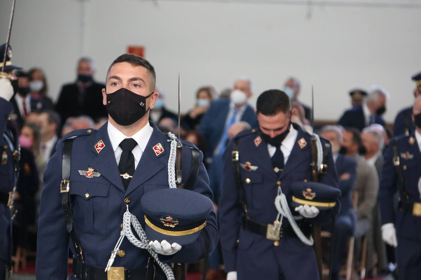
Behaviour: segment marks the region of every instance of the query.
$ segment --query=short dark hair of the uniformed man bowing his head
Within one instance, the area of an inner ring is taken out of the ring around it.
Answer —
[[[266,116],[273,116],[279,112],[287,114],[291,112],[291,102],[282,90],[269,89],[257,98],[256,111]]]

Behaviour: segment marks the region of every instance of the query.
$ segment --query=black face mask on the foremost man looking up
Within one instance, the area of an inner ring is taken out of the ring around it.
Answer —
[[[146,110],[146,99],[152,94],[141,96],[125,88],[118,89],[107,94],[107,112],[120,126],[130,126],[149,110]]]

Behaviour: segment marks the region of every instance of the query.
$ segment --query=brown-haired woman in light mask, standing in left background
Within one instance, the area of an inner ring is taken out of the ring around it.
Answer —
[[[47,78],[45,78],[44,72],[40,68],[32,68],[28,71],[29,74],[29,89],[31,97],[42,104],[42,108],[37,110],[52,110],[53,101],[48,94]]]

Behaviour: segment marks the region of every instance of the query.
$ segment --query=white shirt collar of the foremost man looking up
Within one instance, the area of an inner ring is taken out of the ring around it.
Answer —
[[[152,126],[149,125],[149,122],[144,126],[141,130],[133,134],[131,137],[125,136],[121,131],[119,131],[115,126],[113,126],[110,122],[107,125],[108,137],[109,141],[111,142],[112,149],[114,149],[115,160],[118,163],[120,162],[121,153],[123,150],[118,146],[121,141],[126,138],[133,138],[137,145],[133,148],[132,153],[134,156],[134,166],[135,168],[139,164],[140,158],[142,157],[143,151],[148,144],[149,138],[151,138],[152,131],[154,129]]]

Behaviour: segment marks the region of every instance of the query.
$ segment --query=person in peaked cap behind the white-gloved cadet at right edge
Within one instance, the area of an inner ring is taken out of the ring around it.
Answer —
[[[421,92],[421,72],[412,76],[412,80],[416,84],[416,88],[414,89],[414,96],[415,98],[420,95]],[[405,135],[409,136],[409,134],[413,133],[415,130],[414,122],[411,118],[412,116],[412,106],[406,107],[402,109],[395,118],[394,125],[393,125],[393,135]]]

